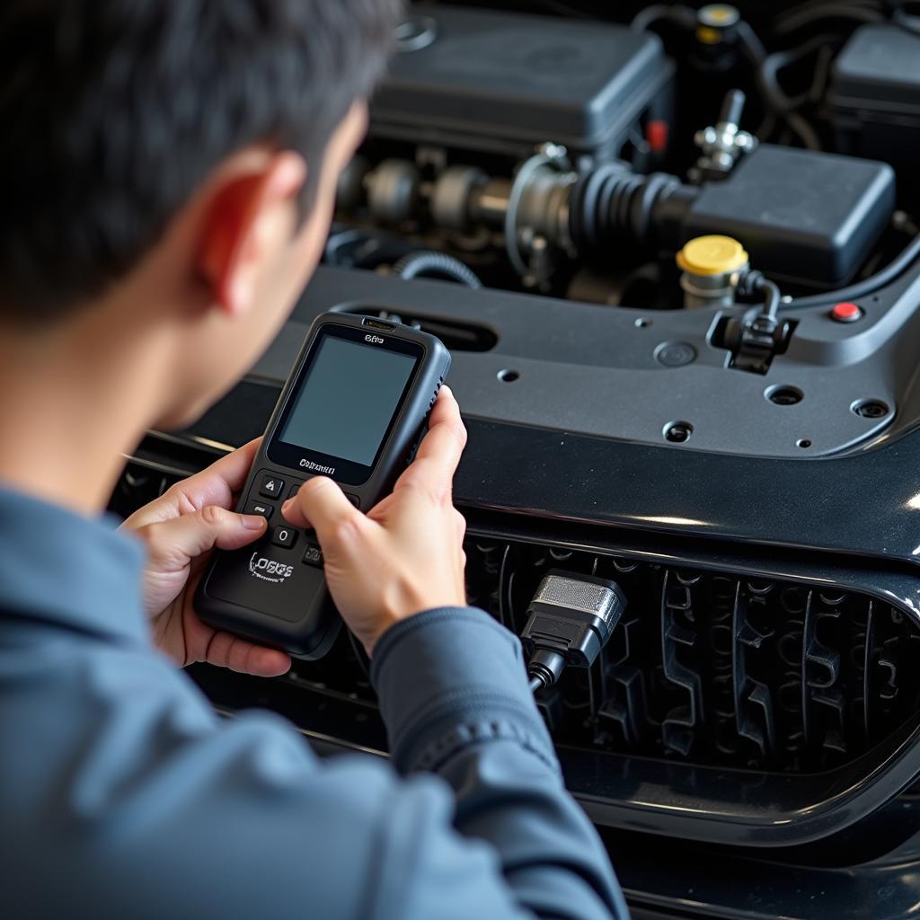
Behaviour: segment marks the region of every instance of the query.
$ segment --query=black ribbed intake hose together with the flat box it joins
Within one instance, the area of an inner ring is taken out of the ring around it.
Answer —
[[[624,165],[593,167],[571,187],[569,236],[581,256],[604,261],[731,236],[768,277],[828,288],[853,278],[893,211],[887,164],[761,144],[726,178],[699,186]]]

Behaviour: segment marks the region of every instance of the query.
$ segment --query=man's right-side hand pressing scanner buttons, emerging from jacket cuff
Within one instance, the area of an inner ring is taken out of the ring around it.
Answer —
[[[294,527],[316,529],[329,591],[368,654],[399,620],[466,605],[466,522],[451,498],[465,445],[460,410],[444,386],[414,462],[366,515],[326,477],[309,479],[282,507]]]

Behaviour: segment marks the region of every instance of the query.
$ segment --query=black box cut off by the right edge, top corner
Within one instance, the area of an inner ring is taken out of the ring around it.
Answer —
[[[834,63],[830,100],[840,150],[914,167],[920,156],[920,36],[894,25],[857,29]]]

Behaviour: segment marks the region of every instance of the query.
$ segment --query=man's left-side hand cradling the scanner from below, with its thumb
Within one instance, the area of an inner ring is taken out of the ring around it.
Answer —
[[[251,441],[183,479],[121,525],[147,546],[144,606],[156,645],[180,666],[210,661],[263,677],[283,674],[291,667],[291,659],[282,651],[206,626],[191,603],[215,546],[238,549],[265,533],[264,518],[228,510],[246,482],[258,447],[258,440]]]

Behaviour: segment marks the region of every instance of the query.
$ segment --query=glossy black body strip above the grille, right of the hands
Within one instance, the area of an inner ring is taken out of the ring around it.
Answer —
[[[468,507],[920,563],[920,431],[791,461],[466,421],[455,495]]]

